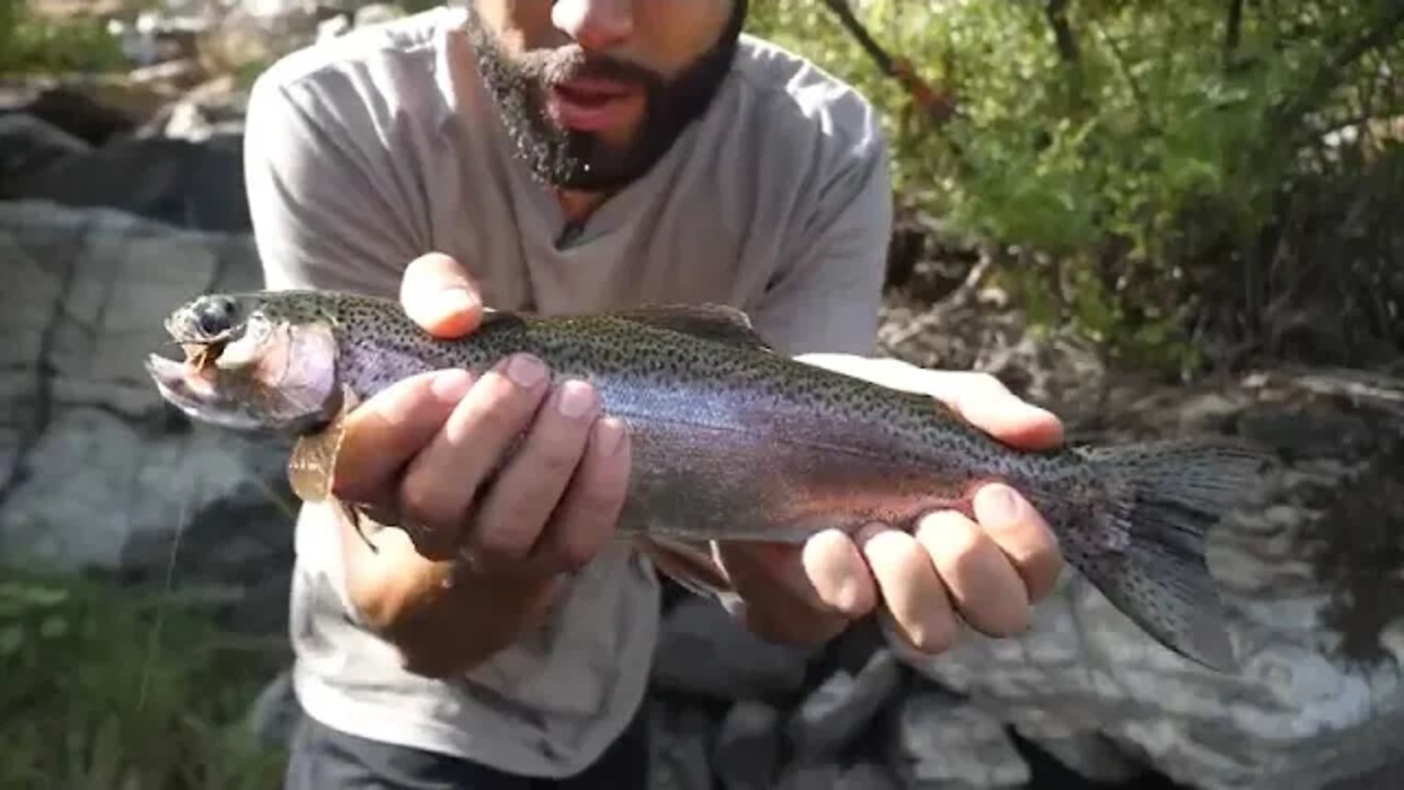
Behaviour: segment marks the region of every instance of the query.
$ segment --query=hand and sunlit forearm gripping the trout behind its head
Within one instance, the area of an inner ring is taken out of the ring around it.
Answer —
[[[442,254],[410,263],[400,301],[442,337],[483,315],[476,284]],[[588,384],[550,380],[541,360],[514,356],[476,381],[462,370],[407,378],[347,419],[333,493],[403,529],[376,533],[378,552],[343,541],[348,586],[373,626],[417,654],[411,665],[461,669],[505,645],[614,533],[626,429],[600,413]]]

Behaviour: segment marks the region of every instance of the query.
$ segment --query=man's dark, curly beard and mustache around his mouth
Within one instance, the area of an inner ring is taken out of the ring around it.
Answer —
[[[673,79],[587,53],[577,45],[508,55],[472,3],[466,6],[465,31],[518,156],[548,186],[609,193],[653,169],[710,107],[730,72],[747,3],[734,3],[731,21],[717,42]],[[643,91],[643,117],[625,146],[609,145],[594,132],[563,128],[546,112],[545,100],[553,84],[584,77],[615,80]]]

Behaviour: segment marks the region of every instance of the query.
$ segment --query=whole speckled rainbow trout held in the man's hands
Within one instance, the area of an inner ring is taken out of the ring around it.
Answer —
[[[629,426],[625,536],[797,543],[870,522],[911,529],[932,509],[970,514],[974,488],[1004,481],[1132,621],[1198,663],[1236,666],[1203,544],[1266,462],[1247,447],[1011,448],[929,396],[778,354],[744,313],[713,305],[487,312],[469,336],[441,340],[389,299],[265,291],[204,295],[166,329],[187,358],[150,356],[161,395],[199,422],[302,437],[289,477],[303,499],[327,495],[355,403],[413,374],[480,374],[529,351],[557,377],[590,381]]]

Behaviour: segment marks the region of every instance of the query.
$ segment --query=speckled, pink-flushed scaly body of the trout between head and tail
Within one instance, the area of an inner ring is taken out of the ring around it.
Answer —
[[[343,340],[359,396],[434,367],[480,374],[522,351],[557,377],[594,384],[604,410],[630,427],[629,530],[799,541],[873,520],[907,526],[939,506],[969,512],[974,482],[1021,477],[984,434],[932,419],[929,398],[893,396],[772,353],[612,318],[500,316],[449,344],[425,342],[399,313],[393,320],[389,343]]]

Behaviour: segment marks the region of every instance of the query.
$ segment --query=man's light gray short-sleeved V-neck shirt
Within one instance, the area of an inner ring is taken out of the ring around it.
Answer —
[[[393,297],[404,266],[437,250],[497,309],[722,302],[786,353],[870,351],[892,186],[861,96],[744,37],[706,117],[566,242],[556,198],[512,157],[461,20],[438,8],[364,28],[260,77],[246,166],[268,287]],[[573,581],[542,633],[446,680],[403,671],[358,621],[330,513],[302,509],[296,557],[295,687],[330,727],[564,776],[642,701],[658,586],[622,544]]]

